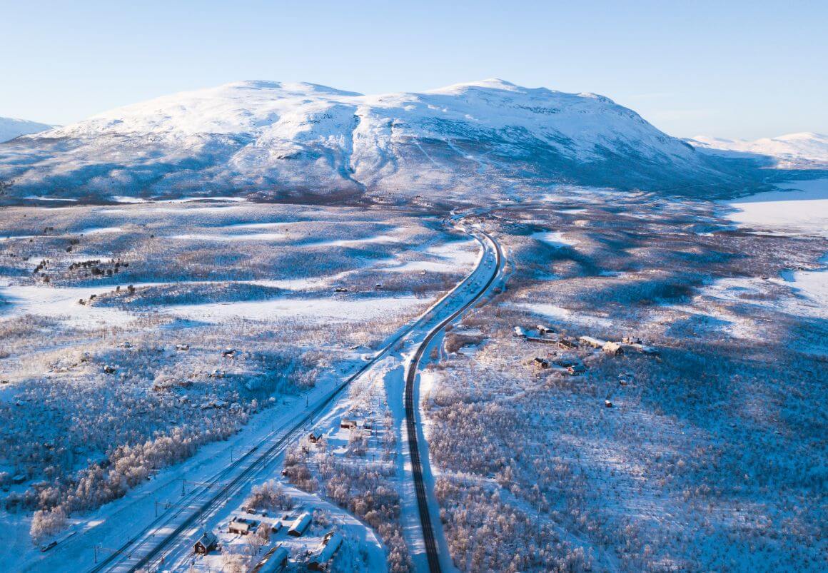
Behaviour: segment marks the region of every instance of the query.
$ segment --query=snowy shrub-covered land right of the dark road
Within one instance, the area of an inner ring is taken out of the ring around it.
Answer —
[[[508,289],[427,378],[455,565],[824,568],[828,247],[812,185],[739,200],[736,221],[611,192],[495,211]],[[606,340],[623,354],[594,348]]]

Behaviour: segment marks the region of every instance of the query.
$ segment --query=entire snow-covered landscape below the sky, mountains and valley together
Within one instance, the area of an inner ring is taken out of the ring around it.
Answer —
[[[0,563],[825,571],[820,142],[485,80],[0,144]]]

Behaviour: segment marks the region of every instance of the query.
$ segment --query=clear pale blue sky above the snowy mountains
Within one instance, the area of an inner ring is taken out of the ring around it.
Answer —
[[[239,79],[498,77],[604,94],[676,136],[828,133],[826,30],[826,0],[0,0],[0,116],[71,123]]]

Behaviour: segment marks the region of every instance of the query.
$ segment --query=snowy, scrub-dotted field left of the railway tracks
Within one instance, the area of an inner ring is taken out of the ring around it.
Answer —
[[[160,469],[189,471],[182,462],[212,442],[330,388],[477,259],[436,219],[372,209],[183,200],[6,215],[0,411],[17,424],[2,432],[0,481],[2,521],[21,532],[6,545],[12,562],[66,524],[93,526],[101,504],[129,514],[120,500]],[[346,537],[342,555],[364,564],[368,547]]]

